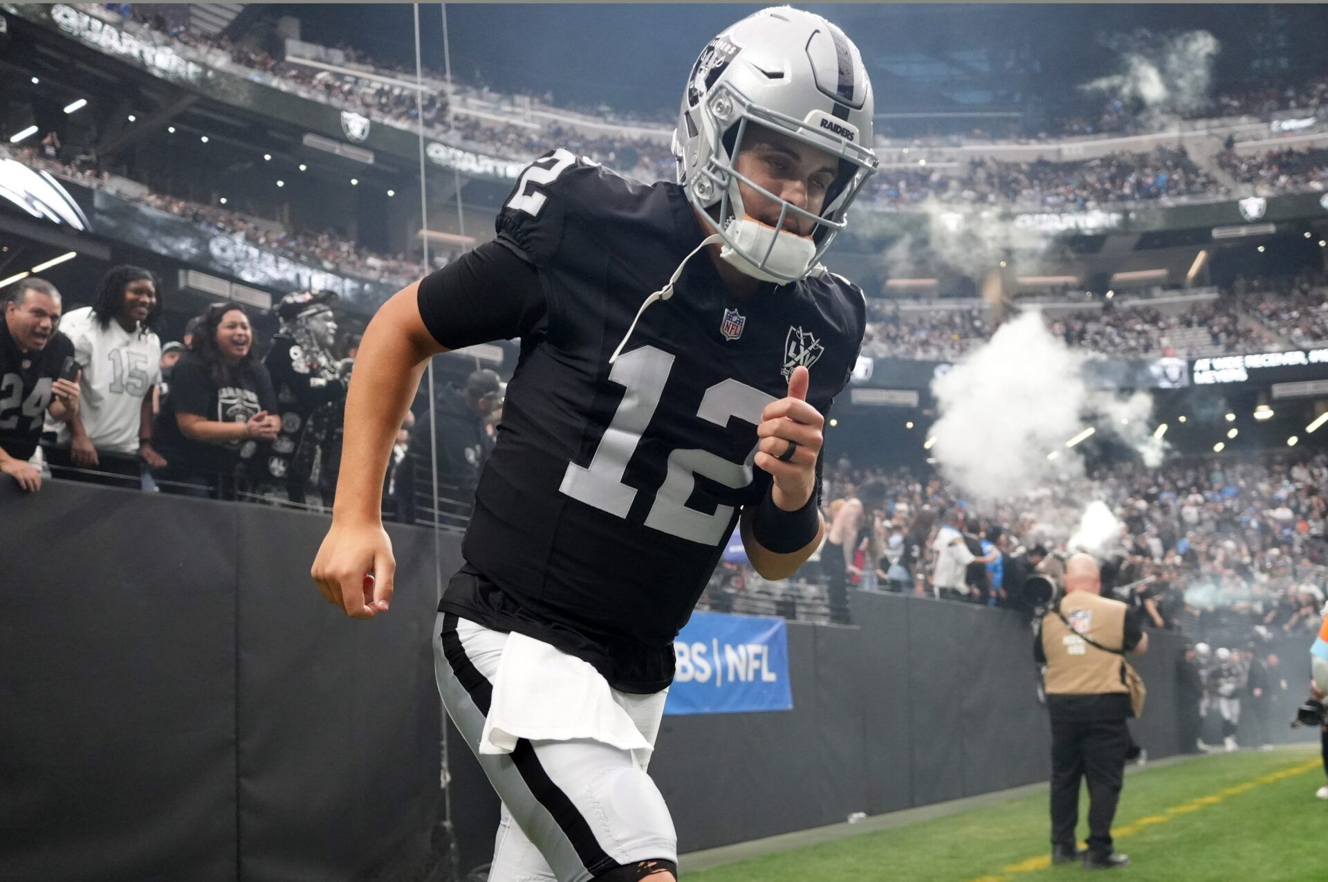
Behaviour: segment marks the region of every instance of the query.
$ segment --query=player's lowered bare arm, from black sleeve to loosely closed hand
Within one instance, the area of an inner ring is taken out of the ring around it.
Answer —
[[[332,527],[309,571],[324,599],[356,619],[386,612],[392,602],[396,561],[382,529],[382,480],[429,357],[446,352],[425,328],[417,299],[418,283],[402,288],[364,332],[345,402]]]

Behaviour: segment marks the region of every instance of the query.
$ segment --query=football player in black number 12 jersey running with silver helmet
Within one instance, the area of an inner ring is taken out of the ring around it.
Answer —
[[[837,27],[752,15],[692,68],[679,183],[554,150],[494,240],[400,291],[364,335],[312,569],[364,619],[392,600],[382,476],[429,357],[521,337],[433,632],[444,705],[502,798],[494,882],[677,875],[645,773],[672,642],[736,522],[769,579],[821,542],[823,414],[865,300],[819,260],[875,169],[871,114]]]

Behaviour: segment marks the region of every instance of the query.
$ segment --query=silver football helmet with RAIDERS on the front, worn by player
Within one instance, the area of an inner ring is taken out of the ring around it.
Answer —
[[[858,48],[839,28],[790,7],[762,9],[710,40],[692,66],[673,130],[679,183],[703,213],[720,205],[718,219],[709,214],[706,218],[736,266],[757,278],[795,282],[815,267],[845,228],[849,205],[876,169],[871,114],[867,69]],[[839,159],[839,175],[819,215],[781,199],[734,169],[752,125]],[[756,222],[742,223],[740,181],[781,205],[780,222],[766,228],[768,235],[750,235],[752,230],[744,228]],[[799,256],[791,263],[772,260],[778,239],[793,235],[782,231],[789,214],[813,222],[814,248],[794,250]],[[803,262],[806,266],[801,266]]]

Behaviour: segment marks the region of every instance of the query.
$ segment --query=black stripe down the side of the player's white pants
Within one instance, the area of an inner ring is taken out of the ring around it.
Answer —
[[[452,665],[457,680],[466,689],[475,707],[479,708],[479,712],[489,716],[489,707],[493,700],[493,684],[489,683],[487,677],[466,656],[466,650],[461,646],[461,638],[457,636],[456,615],[450,612],[444,615],[441,638],[442,655],[448,659],[448,664]],[[539,764],[539,757],[535,756],[535,748],[530,741],[526,739],[517,741],[517,747],[511,752],[511,761],[535,800],[558,822],[559,829],[562,829],[563,834],[572,843],[576,857],[580,858],[587,870],[594,875],[600,875],[622,866],[604,853],[604,849],[600,847],[599,841],[595,838],[595,833],[586,824],[586,818],[582,817],[567,794],[544,772],[544,766]]]

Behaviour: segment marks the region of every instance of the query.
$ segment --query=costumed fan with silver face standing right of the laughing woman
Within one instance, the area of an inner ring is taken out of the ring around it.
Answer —
[[[349,376],[341,375],[332,355],[336,319],[332,315],[335,291],[295,291],[282,298],[276,313],[282,329],[263,364],[272,375],[282,409],[282,434],[272,442],[260,481],[286,485],[291,502],[305,502],[313,460],[321,450],[320,485],[331,502],[336,493],[336,465],[340,458],[340,426],[345,409]]]

